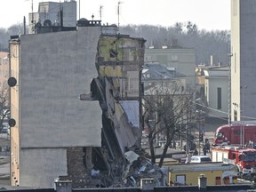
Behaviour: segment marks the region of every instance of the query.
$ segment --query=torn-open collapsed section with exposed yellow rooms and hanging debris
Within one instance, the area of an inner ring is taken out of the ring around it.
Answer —
[[[99,100],[102,109],[102,146],[85,153],[86,168],[92,170],[98,186],[129,186],[129,166],[139,156],[134,152],[141,153],[144,43],[142,38],[101,35],[95,65],[98,77],[92,80],[91,93],[80,96],[81,100]]]

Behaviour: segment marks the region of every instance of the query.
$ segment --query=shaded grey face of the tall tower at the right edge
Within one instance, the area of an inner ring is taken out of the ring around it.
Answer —
[[[241,73],[241,106],[244,109],[244,116],[256,119],[256,2],[253,0],[240,0],[240,73]],[[247,86],[244,89],[244,86]],[[244,105],[244,107],[243,107]],[[252,120],[252,118],[247,120]],[[243,119],[241,119],[243,120]]]

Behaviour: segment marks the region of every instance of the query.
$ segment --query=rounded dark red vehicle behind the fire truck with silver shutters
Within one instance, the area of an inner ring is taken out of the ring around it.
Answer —
[[[256,124],[237,123],[222,125],[214,134],[213,144],[220,145],[228,141],[230,144],[242,144],[243,140],[244,144],[249,143],[249,141],[256,143]]]

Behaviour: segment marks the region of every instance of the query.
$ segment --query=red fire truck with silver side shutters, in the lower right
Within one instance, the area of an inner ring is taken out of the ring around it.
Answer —
[[[212,162],[235,164],[240,175],[256,174],[256,149],[232,145],[212,147]]]

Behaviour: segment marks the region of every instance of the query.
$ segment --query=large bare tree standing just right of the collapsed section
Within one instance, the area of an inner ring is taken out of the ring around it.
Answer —
[[[191,116],[193,92],[184,91],[179,82],[168,86],[154,86],[143,97],[143,115],[148,126],[148,143],[151,161],[156,163],[155,147],[159,136],[164,137],[164,151],[159,166],[164,163],[167,149],[179,136],[185,139],[190,132],[184,132],[186,125],[195,119]],[[188,126],[186,126],[188,130]]]

